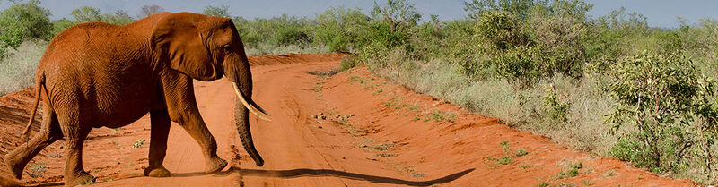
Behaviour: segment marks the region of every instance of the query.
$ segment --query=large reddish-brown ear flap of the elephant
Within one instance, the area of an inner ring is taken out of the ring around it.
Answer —
[[[205,37],[197,23],[205,17],[195,13],[171,13],[153,27],[151,43],[162,62],[173,70],[201,81],[214,80],[217,73]]]

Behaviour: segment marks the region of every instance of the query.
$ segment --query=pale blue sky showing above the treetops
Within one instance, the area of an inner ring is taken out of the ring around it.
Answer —
[[[642,13],[654,27],[673,28],[679,26],[677,16],[695,23],[700,19],[718,19],[718,1],[716,0],[587,0],[594,4],[590,14],[599,17],[625,7],[626,12]],[[382,3],[384,0],[378,0]],[[428,14],[437,14],[441,20],[453,20],[466,16],[463,0],[415,0],[416,9],[428,18]],[[0,0],[0,8],[11,3]],[[157,4],[171,12],[201,12],[206,5],[228,5],[234,15],[245,18],[268,18],[283,13],[289,15],[313,16],[328,7],[359,7],[364,12],[373,7],[372,0],[43,0],[42,6],[53,13],[52,19],[69,17],[69,13],[80,6],[89,5],[100,8],[102,13],[112,13],[119,9],[136,15],[145,4]]]

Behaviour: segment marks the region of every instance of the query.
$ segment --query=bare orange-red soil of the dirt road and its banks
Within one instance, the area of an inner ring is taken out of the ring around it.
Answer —
[[[150,143],[147,116],[121,129],[93,130],[84,147],[84,167],[98,177],[96,186],[695,185],[565,149],[495,118],[416,94],[365,67],[321,75],[337,70],[342,56],[250,57],[253,98],[273,119],[250,119],[265,166],[255,166],[241,148],[233,118],[236,97],[230,82],[219,80],[195,81],[195,92],[220,157],[230,161],[222,173],[203,174],[197,143],[173,124],[165,166],[174,176],[144,177]],[[30,115],[33,90],[0,98],[0,155],[24,141],[18,134]],[[33,134],[39,131],[39,117],[35,120]],[[147,142],[132,148],[138,140]],[[63,145],[57,141],[44,149],[20,182],[10,180],[0,164],[0,185],[62,185]],[[517,155],[520,149],[525,155]],[[578,163],[582,166],[570,171]]]

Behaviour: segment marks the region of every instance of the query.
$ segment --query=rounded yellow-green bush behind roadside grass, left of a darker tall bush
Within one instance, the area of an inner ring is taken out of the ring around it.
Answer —
[[[463,72],[475,78],[491,77],[491,74],[509,81],[528,85],[536,81],[539,72],[534,63],[536,47],[531,45],[530,36],[515,14],[505,11],[484,11],[476,21],[469,40],[473,46],[460,46],[454,51],[473,53],[468,60],[459,61]],[[473,58],[473,59],[471,59]],[[487,72],[493,70],[495,72]]]

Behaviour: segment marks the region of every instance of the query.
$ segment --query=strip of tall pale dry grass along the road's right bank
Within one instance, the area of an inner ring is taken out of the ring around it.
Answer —
[[[616,137],[609,135],[609,125],[604,122],[616,101],[600,91],[597,76],[589,75],[580,82],[556,76],[530,89],[519,89],[505,79],[470,79],[461,73],[459,64],[441,59],[416,60],[401,50],[390,52],[383,62],[368,63],[374,72],[418,93],[499,118],[503,123],[545,135],[572,149],[609,156]],[[569,105],[566,123],[549,117],[551,111],[545,104],[547,89],[555,89],[558,99]]]

